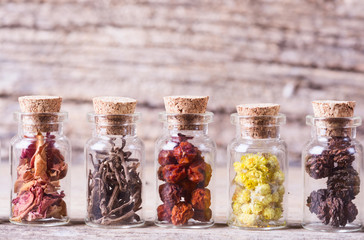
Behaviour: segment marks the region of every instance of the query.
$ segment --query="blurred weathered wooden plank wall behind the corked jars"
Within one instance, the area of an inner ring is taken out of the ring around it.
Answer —
[[[64,97],[76,162],[91,135],[91,98],[136,98],[152,162],[162,97],[196,94],[211,97],[219,163],[235,105],[277,102],[288,117],[289,160],[299,165],[311,100],[356,100],[363,116],[363,90],[361,0],[0,0],[3,159],[18,96]]]

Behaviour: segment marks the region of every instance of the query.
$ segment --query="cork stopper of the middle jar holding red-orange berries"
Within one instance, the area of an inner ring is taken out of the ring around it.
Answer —
[[[201,130],[203,116],[206,113],[208,96],[167,96],[164,105],[169,128],[176,126],[178,130]]]

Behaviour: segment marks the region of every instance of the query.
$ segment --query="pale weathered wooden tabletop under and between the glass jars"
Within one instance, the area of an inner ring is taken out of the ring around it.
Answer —
[[[2,164],[0,172],[6,176],[7,164]],[[288,222],[286,229],[274,231],[247,231],[229,228],[226,222],[226,171],[224,168],[216,170],[216,224],[208,229],[168,229],[153,224],[154,199],[153,181],[147,179],[145,190],[148,197],[144,199],[144,215],[147,220],[145,226],[132,229],[102,229],[86,226],[83,221],[85,212],[85,177],[82,165],[72,168],[72,205],[70,209],[71,222],[67,226],[34,227],[18,226],[7,221],[9,213],[8,187],[9,180],[2,177],[1,186],[1,218],[0,239],[364,239],[363,232],[356,233],[321,233],[305,230],[300,225],[301,218],[301,171],[291,168],[288,186]],[[147,167],[147,176],[153,176],[152,166]],[[8,176],[8,175],[7,175]]]

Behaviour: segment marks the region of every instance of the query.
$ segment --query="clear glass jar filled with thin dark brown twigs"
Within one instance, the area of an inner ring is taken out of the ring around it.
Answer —
[[[144,224],[144,144],[136,134],[140,113],[90,113],[93,136],[85,146],[87,214],[93,227],[130,228]]]

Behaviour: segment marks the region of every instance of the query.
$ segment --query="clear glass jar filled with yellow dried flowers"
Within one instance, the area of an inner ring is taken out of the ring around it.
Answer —
[[[279,132],[285,115],[234,113],[231,122],[236,136],[228,145],[228,225],[253,230],[285,227],[287,147]]]

